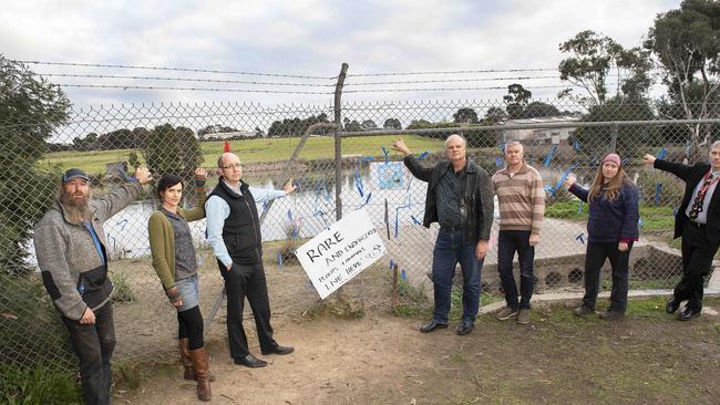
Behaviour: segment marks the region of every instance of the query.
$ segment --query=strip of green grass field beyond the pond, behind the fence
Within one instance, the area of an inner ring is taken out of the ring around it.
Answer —
[[[395,135],[358,136],[342,139],[343,155],[363,155],[384,157],[380,146],[390,150],[390,145],[397,139]],[[444,148],[442,139],[407,135],[402,137],[405,144],[415,154],[424,150],[441,152]],[[260,138],[230,141],[230,150],[236,153],[244,164],[269,163],[287,160],[292,155],[300,138]],[[204,167],[215,167],[217,157],[223,152],[224,142],[203,142],[200,148],[205,158]],[[91,174],[104,174],[105,164],[110,162],[127,162],[128,155],[136,149],[116,150],[91,150],[91,152],[55,152],[47,154],[45,158],[38,162],[38,167],[43,169],[58,168],[66,170],[71,167],[79,167]],[[145,163],[142,153],[137,153],[142,164]],[[335,139],[332,137],[312,137],[302,147],[300,159],[316,160],[329,159],[335,156]],[[399,157],[400,154],[390,152],[390,156]]]

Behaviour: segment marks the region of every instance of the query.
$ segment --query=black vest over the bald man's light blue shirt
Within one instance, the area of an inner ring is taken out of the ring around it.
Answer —
[[[230,258],[239,264],[255,264],[263,261],[260,222],[247,183],[240,181],[240,191],[241,196],[233,191],[220,177],[210,197],[218,196],[230,207],[230,215],[223,226],[223,241]]]

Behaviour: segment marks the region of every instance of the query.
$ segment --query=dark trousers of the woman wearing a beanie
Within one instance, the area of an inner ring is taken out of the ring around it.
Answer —
[[[583,303],[587,308],[595,309],[597,292],[600,285],[605,259],[610,260],[613,267],[613,289],[610,291],[610,308],[613,312],[625,313],[627,310],[627,290],[630,250],[632,242],[628,243],[626,251],[619,251],[619,242],[587,242],[585,252],[585,298]]]

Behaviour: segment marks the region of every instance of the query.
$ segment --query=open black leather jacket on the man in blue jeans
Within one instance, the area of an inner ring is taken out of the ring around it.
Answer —
[[[404,164],[418,179],[428,181],[425,197],[425,216],[422,225],[430,228],[430,224],[438,221],[438,205],[435,201],[435,187],[440,177],[452,165],[450,160],[441,160],[434,167],[424,167],[413,156],[407,156]],[[467,159],[465,180],[460,191],[460,217],[465,243],[477,243],[479,240],[488,240],[493,226],[493,186],[490,175],[485,169]]]

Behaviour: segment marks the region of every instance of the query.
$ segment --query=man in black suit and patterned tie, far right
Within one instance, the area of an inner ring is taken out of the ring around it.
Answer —
[[[675,217],[675,237],[682,236],[682,278],[666,305],[673,313],[688,300],[678,315],[681,321],[700,316],[703,279],[710,273],[712,259],[720,246],[720,141],[710,148],[710,165],[692,166],[656,159],[645,155],[645,163],[672,173],[686,184],[685,196]]]

